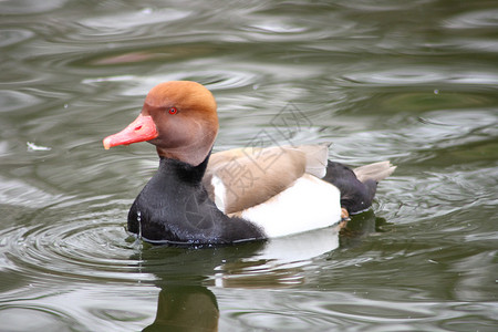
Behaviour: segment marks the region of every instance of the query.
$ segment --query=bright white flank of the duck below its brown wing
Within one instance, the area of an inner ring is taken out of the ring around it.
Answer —
[[[341,220],[341,194],[336,187],[304,174],[273,198],[242,211],[269,238],[332,226]]]

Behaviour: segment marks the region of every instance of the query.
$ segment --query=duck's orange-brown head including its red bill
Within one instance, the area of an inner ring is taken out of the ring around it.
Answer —
[[[197,166],[204,162],[218,133],[216,101],[199,83],[172,81],[154,86],[138,117],[104,147],[148,142],[162,157]]]

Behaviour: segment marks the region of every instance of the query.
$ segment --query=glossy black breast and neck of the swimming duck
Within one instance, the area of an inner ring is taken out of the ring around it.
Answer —
[[[162,158],[128,212],[128,230],[151,242],[231,243],[266,238],[255,225],[229,218],[209,199],[198,166]]]

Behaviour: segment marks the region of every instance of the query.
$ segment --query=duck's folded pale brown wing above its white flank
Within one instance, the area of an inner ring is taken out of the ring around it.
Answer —
[[[204,177],[209,197],[225,214],[269,200],[305,173],[325,173],[326,146],[246,147],[215,153]]]

